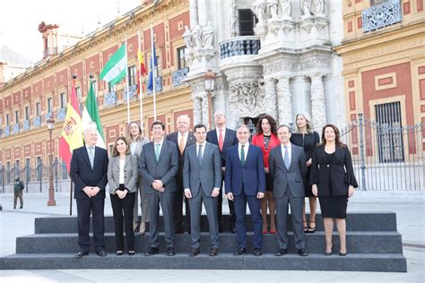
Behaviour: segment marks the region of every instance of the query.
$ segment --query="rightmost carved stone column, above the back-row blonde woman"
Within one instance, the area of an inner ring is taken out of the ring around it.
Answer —
[[[325,89],[323,86],[322,73],[309,75],[311,78],[311,118],[315,130],[320,129],[326,124],[326,108],[325,108]]]

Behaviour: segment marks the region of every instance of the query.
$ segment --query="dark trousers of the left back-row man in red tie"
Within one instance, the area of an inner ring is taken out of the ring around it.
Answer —
[[[190,231],[190,207],[189,201],[186,199],[183,188],[183,176],[176,177],[178,189],[174,195],[173,217],[175,231]],[[185,200],[186,221],[183,220],[183,200]]]

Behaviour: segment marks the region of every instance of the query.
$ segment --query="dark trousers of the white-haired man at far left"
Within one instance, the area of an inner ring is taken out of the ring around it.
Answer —
[[[90,249],[90,215],[93,222],[93,243],[95,251],[105,250],[104,234],[105,222],[103,210],[105,209],[104,197],[87,197],[86,199],[76,199],[78,217],[78,244],[82,252],[89,252]]]

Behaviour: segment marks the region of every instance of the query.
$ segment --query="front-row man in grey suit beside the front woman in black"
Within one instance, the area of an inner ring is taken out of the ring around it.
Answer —
[[[302,206],[304,203],[303,179],[307,173],[304,150],[291,144],[291,129],[282,124],[277,129],[281,146],[270,151],[269,170],[273,177],[273,197],[276,202],[277,243],[276,256],[288,253],[288,204],[291,205],[292,226],[295,247],[300,256],[307,256],[306,240],[302,227]]]

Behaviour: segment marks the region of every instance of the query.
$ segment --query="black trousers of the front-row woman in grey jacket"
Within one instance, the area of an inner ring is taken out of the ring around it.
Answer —
[[[110,194],[110,204],[114,212],[115,241],[117,251],[124,251],[123,220],[126,225],[128,251],[134,251],[133,209],[135,193],[127,193],[124,199],[117,194]],[[124,213],[124,216],[123,216]]]

